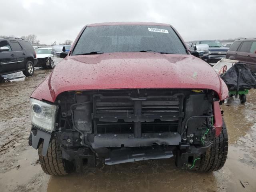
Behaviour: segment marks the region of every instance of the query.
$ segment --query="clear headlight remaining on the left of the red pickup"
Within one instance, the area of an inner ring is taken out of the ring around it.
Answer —
[[[48,132],[53,132],[57,109],[57,105],[48,104],[46,102],[30,98],[31,122],[38,128]]]

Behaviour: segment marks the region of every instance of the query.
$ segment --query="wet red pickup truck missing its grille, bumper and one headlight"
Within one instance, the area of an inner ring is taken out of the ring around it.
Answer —
[[[192,54],[169,24],[86,25],[30,98],[29,144],[44,172],[173,156],[188,170],[222,168],[228,89]]]

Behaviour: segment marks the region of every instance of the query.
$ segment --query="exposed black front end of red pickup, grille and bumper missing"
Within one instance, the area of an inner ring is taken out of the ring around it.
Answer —
[[[52,130],[32,126],[30,145],[51,138],[76,170],[96,159],[119,164],[175,156],[176,165],[197,169],[202,154],[219,134],[222,117],[212,90],[134,89],[63,92],[54,106]],[[192,164],[193,167],[192,167]]]

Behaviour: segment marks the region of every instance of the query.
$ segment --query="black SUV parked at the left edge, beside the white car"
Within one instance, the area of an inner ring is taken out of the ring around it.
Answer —
[[[21,38],[0,38],[0,75],[22,71],[27,76],[34,73],[36,52],[30,42]]]

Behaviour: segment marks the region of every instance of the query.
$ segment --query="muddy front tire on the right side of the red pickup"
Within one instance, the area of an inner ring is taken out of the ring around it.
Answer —
[[[214,138],[212,146],[201,156],[200,166],[198,168],[200,172],[220,170],[226,162],[228,155],[228,132],[223,118],[222,122],[220,135]]]

